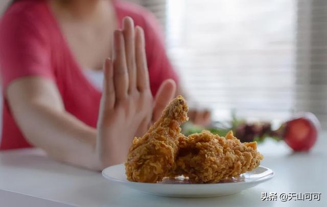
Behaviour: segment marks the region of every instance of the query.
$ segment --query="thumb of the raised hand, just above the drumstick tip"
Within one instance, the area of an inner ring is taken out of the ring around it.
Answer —
[[[154,108],[152,115],[152,122],[155,122],[160,118],[162,111],[169,104],[169,101],[173,99],[176,93],[176,83],[172,79],[164,81],[154,98]]]

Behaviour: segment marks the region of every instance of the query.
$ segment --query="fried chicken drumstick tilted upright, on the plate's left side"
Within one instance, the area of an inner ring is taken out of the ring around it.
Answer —
[[[161,117],[142,138],[134,138],[125,170],[134,182],[161,181],[175,164],[181,123],[188,120],[188,106],[182,96],[173,99]]]

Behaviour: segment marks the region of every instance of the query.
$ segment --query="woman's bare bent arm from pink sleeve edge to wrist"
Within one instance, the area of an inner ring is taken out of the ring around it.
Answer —
[[[65,111],[56,85],[41,77],[24,77],[7,88],[7,100],[24,137],[50,157],[100,170],[97,131]]]

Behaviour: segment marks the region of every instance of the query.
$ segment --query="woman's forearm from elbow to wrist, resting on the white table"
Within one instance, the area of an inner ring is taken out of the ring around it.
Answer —
[[[95,128],[64,110],[41,104],[31,104],[16,114],[16,121],[27,140],[44,149],[51,158],[92,170],[101,169],[95,151]]]

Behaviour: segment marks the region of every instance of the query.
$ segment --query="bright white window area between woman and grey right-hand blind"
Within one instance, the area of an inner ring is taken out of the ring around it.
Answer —
[[[290,116],[294,2],[175,2],[168,1],[168,49],[193,100],[217,119],[231,111],[249,119]]]

